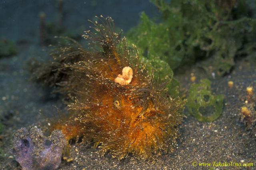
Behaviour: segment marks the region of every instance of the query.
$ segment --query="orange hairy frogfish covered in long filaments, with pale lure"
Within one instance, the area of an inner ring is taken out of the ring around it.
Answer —
[[[119,160],[128,153],[144,159],[171,152],[184,107],[166,88],[172,75],[161,81],[148,71],[136,46],[128,47],[126,38],[114,32],[112,18],[100,16],[92,23],[95,31],[83,36],[90,50],[64,38],[66,43],[51,53],[53,61],[34,73],[38,81],[70,96],[70,117],[60,118],[50,129],[61,130],[67,140],[93,140],[102,155],[109,151]],[[127,82],[120,84],[116,77]]]

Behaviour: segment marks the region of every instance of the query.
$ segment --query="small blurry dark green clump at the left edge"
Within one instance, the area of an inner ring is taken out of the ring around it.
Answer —
[[[15,55],[18,53],[16,44],[10,40],[0,39],[0,57]]]

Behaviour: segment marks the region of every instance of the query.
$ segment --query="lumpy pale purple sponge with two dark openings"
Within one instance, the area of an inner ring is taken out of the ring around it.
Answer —
[[[10,152],[22,170],[56,169],[65,145],[66,140],[60,130],[54,130],[46,137],[37,127],[21,128],[14,134]]]

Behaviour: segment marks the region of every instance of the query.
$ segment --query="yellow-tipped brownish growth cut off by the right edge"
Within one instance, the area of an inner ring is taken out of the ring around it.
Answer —
[[[256,95],[252,91],[252,87],[247,87],[246,101],[240,110],[241,121],[246,126],[246,130],[256,137]]]

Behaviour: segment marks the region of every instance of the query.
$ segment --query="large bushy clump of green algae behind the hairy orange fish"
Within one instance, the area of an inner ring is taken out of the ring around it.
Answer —
[[[157,54],[172,69],[198,63],[207,73],[224,75],[235,57],[255,51],[256,20],[246,0],[152,0],[162,12],[153,22],[144,12],[128,39],[145,57]],[[200,61],[200,62],[198,62]]]

